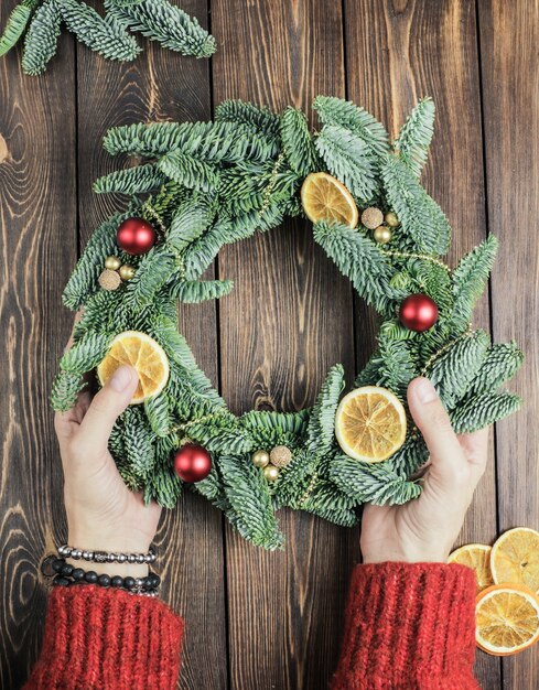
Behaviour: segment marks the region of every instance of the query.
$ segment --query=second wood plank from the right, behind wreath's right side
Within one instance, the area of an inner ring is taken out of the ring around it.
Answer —
[[[376,115],[396,137],[417,100],[432,96],[436,125],[423,175],[453,227],[449,263],[486,235],[478,54],[475,8],[467,0],[432,2],[346,0],[348,97]],[[357,306],[368,328],[357,328],[358,364],[373,349],[376,324]],[[474,325],[489,328],[484,295]],[[492,434],[491,434],[492,436]],[[489,543],[496,535],[494,444],[491,462],[467,515],[460,543]],[[485,688],[499,686],[499,661],[478,653]]]

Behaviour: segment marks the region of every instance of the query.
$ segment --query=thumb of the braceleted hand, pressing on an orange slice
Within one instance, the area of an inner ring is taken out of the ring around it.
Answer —
[[[91,400],[80,423],[78,438],[82,445],[87,442],[91,448],[107,448],[112,427],[129,405],[138,382],[139,377],[133,367],[121,366],[116,369],[107,385]]]

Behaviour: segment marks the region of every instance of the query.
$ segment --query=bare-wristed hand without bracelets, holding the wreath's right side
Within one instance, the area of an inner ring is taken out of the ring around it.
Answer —
[[[411,381],[408,403],[430,452],[424,489],[402,506],[365,506],[364,563],[445,562],[486,467],[487,430],[457,436],[427,378]]]

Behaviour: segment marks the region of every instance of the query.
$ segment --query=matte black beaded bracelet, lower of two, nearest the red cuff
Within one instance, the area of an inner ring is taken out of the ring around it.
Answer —
[[[45,576],[53,579],[55,586],[71,586],[76,584],[97,584],[103,587],[115,587],[125,590],[131,594],[142,594],[145,596],[158,596],[158,586],[161,584],[161,578],[150,572],[144,578],[132,578],[127,575],[107,575],[105,573],[98,575],[94,570],[84,570],[75,568],[67,563],[64,558],[47,557],[42,565],[41,571]]]

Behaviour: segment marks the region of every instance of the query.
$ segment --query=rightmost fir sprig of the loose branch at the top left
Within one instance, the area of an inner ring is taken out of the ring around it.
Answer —
[[[209,57],[215,53],[215,39],[203,29],[196,18],[191,18],[168,0],[139,0],[118,4],[105,0],[108,17],[119,24],[140,33],[163,47],[183,55]]]

